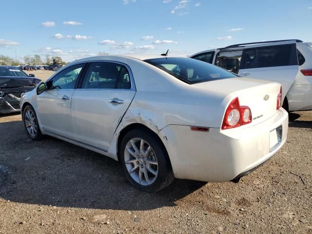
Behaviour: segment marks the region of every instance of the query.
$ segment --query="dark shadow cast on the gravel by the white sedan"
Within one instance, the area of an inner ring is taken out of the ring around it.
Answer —
[[[28,204],[116,210],[176,206],[205,182],[179,180],[155,194],[132,187],[111,158],[65,141],[30,140],[21,121],[0,123],[0,197]]]

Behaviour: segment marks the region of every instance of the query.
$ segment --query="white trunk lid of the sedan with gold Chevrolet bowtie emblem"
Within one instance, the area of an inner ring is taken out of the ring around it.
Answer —
[[[226,91],[238,97],[239,104],[248,106],[252,112],[253,121],[246,126],[265,121],[277,112],[277,96],[281,85],[276,82],[252,78],[228,78],[193,85],[203,89]]]

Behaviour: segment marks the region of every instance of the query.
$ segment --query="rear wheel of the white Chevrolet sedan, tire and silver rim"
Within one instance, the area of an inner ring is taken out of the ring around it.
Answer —
[[[119,159],[128,181],[144,192],[158,192],[175,179],[161,141],[146,131],[132,130],[123,137]]]

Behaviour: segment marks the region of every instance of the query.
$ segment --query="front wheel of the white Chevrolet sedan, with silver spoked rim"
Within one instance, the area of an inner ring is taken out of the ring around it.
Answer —
[[[23,110],[23,123],[28,137],[33,140],[40,140],[42,138],[38,118],[31,105],[27,105]]]

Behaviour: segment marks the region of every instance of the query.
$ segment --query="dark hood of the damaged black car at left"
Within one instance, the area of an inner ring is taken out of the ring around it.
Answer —
[[[32,77],[0,77],[0,88],[13,88],[20,86],[34,86],[41,80]]]

